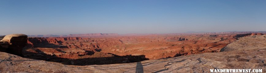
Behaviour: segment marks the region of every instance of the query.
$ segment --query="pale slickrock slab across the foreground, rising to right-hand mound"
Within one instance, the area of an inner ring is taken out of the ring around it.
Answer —
[[[221,52],[108,65],[64,65],[0,52],[0,72],[210,73],[210,69],[262,69],[265,72],[265,39],[266,35],[245,36],[228,44]]]

